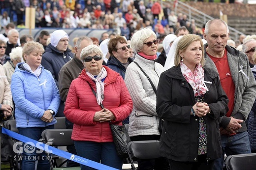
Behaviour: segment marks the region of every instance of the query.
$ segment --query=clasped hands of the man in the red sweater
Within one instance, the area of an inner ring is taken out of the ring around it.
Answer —
[[[244,120],[236,119],[232,116],[230,116],[230,122],[228,123],[227,127],[220,127],[221,135],[230,135],[236,133],[241,127],[241,123],[244,122]]]

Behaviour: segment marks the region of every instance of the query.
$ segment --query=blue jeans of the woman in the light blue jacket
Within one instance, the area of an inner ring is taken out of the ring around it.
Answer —
[[[42,132],[45,129],[54,129],[54,125],[50,125],[46,127],[30,127],[30,128],[18,128],[18,129],[19,129],[19,134],[26,136],[28,138],[31,138],[35,141],[38,141],[39,139],[41,139]],[[40,150],[40,153],[36,153],[36,151],[38,152],[39,149],[35,148],[34,146],[32,147],[32,145],[26,144],[26,143],[23,143],[22,146],[23,146],[22,170],[49,170],[50,169],[49,158],[47,159],[46,153],[44,151],[42,152]],[[24,146],[29,150],[29,153],[26,152],[26,149]],[[37,169],[35,169],[35,161],[38,161]]]

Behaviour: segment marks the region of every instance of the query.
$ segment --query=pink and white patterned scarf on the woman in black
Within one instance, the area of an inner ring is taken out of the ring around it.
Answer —
[[[200,63],[195,66],[194,73],[183,62],[180,67],[182,75],[193,88],[194,96],[201,96],[208,91],[204,83],[204,70]]]

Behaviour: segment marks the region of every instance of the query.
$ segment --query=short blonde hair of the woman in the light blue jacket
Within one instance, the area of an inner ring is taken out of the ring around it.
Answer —
[[[24,58],[24,54],[30,55],[32,53],[32,51],[34,51],[34,50],[38,50],[39,52],[44,53],[43,45],[38,42],[29,41],[24,44],[23,50],[22,50],[22,58],[25,62],[26,62],[26,60]]]

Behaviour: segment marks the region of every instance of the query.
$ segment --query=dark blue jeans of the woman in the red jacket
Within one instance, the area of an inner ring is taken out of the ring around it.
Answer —
[[[77,155],[122,170],[123,158],[117,155],[114,142],[74,141]],[[96,170],[80,164],[81,170]]]

